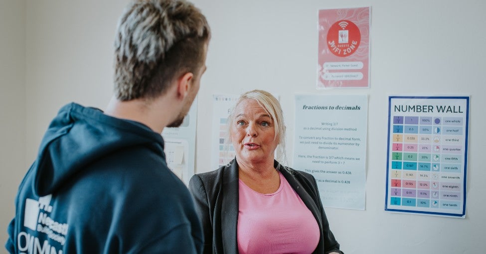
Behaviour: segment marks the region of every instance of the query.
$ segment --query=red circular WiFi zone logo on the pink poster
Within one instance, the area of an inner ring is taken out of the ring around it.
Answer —
[[[339,20],[327,31],[327,47],[336,56],[349,56],[361,42],[359,28],[349,20]]]

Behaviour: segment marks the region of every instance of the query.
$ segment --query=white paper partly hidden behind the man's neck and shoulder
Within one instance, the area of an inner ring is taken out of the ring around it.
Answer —
[[[167,166],[186,185],[194,174],[196,116],[197,98],[180,127],[165,127],[162,130]]]

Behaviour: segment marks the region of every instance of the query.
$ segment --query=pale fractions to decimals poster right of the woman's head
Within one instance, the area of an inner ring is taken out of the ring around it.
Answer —
[[[364,210],[367,95],[296,95],[292,167],[311,173],[325,207]]]

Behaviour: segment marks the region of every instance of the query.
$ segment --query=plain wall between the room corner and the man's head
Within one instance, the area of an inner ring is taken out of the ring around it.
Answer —
[[[27,159],[61,106],[104,108],[113,88],[113,41],[128,0],[27,1]]]

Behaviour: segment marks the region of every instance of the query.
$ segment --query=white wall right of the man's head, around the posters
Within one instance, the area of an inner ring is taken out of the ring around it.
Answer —
[[[200,0],[213,38],[199,93],[198,120],[212,93],[278,91],[293,154],[294,94],[369,95],[366,210],[327,208],[346,254],[484,253],[486,205],[482,156],[486,3],[482,0]],[[216,7],[217,6],[217,7]],[[317,10],[371,6],[371,87],[317,91]],[[384,211],[387,96],[471,95],[466,219]],[[207,168],[210,121],[198,121],[197,172]]]

